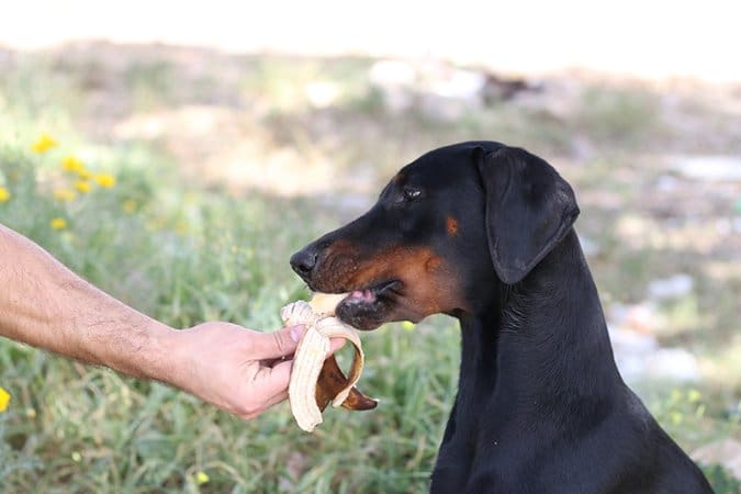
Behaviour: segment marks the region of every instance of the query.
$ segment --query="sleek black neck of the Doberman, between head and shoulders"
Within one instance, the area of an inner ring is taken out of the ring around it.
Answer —
[[[485,311],[459,318],[459,400],[494,401],[519,416],[544,408],[558,415],[584,400],[598,403],[622,382],[574,231]]]

